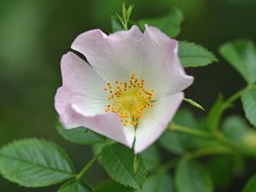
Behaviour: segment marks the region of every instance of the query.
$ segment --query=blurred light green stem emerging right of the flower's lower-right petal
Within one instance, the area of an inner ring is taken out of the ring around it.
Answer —
[[[196,137],[212,138],[212,135],[210,133],[207,133],[206,131],[201,131],[201,130],[186,127],[183,125],[177,125],[175,123],[168,125],[168,129],[171,131],[183,132]]]

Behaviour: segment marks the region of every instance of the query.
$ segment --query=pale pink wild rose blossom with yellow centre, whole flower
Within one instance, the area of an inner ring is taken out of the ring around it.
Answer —
[[[141,32],[106,35],[101,30],[76,38],[61,59],[62,86],[55,95],[61,123],[84,126],[142,152],[160,137],[193,82],[184,73],[177,41],[153,26]]]

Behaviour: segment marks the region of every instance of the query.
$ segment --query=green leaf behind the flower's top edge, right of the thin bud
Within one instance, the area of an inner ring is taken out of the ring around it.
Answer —
[[[160,28],[162,32],[165,32],[170,37],[175,38],[180,32],[182,22],[183,13],[177,8],[172,8],[168,15],[154,19],[139,20],[138,26],[143,30],[145,29],[145,24],[148,24],[149,26],[156,26]]]

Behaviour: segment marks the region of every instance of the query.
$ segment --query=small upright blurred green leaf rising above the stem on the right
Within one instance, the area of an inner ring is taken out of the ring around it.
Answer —
[[[218,99],[213,104],[210,112],[207,115],[207,128],[211,131],[217,131],[220,119],[226,108],[229,108],[224,104],[224,98],[222,95],[218,96]]]

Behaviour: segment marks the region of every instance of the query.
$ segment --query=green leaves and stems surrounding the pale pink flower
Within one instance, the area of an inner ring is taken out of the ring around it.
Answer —
[[[124,4],[122,15],[111,17],[113,32],[128,30],[134,24],[142,31],[146,24],[157,26],[171,38],[181,31],[183,13],[177,8],[168,15],[137,22],[131,20],[132,9],[133,6],[126,9]],[[212,52],[195,43],[180,41],[177,51],[183,67],[206,67],[218,61]],[[134,154],[132,149],[87,128],[66,130],[58,123],[56,129],[61,137],[71,143],[90,144],[94,149],[93,158],[80,172],[75,172],[62,148],[35,138],[16,140],[0,148],[0,172],[9,181],[25,187],[46,187],[66,181],[58,192],[91,192],[93,189],[83,176],[99,160],[112,180],[99,183],[97,192],[212,192],[228,188],[247,168],[244,160],[256,157],[256,131],[252,127],[256,126],[256,49],[252,41],[236,40],[221,45],[219,52],[247,86],[227,99],[219,95],[201,118],[195,118],[187,108],[179,109],[160,140],[142,154]],[[224,116],[239,99],[251,125],[241,116]],[[191,99],[185,101],[205,110]],[[171,160],[164,160],[160,150],[172,154]],[[175,172],[169,172],[173,169]],[[242,191],[254,192],[255,188],[253,176]]]

